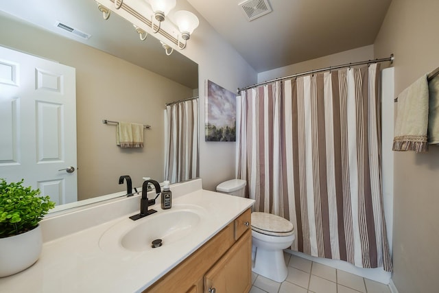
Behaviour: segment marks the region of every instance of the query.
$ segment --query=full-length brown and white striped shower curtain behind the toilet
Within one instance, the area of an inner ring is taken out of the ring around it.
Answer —
[[[373,64],[242,92],[237,175],[255,211],[294,224],[293,250],[391,271],[378,75]]]

